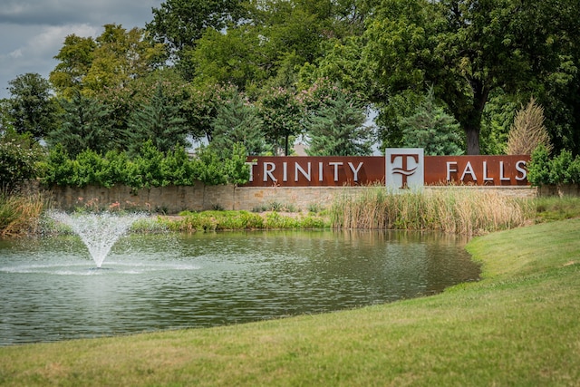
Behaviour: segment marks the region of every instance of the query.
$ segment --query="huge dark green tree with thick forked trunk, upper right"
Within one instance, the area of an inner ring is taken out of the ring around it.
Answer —
[[[575,2],[577,3],[577,2]],[[479,153],[482,112],[490,92],[517,92],[560,76],[577,32],[579,5],[549,0],[387,0],[367,31],[367,50],[388,91],[433,84]],[[575,53],[577,55],[577,53]]]

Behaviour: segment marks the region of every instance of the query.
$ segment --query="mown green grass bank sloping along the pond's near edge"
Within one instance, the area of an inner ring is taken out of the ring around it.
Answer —
[[[483,279],[256,324],[0,348],[0,384],[577,385],[580,219],[478,237]]]

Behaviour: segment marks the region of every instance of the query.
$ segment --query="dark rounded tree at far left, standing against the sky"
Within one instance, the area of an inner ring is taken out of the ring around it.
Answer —
[[[51,86],[38,73],[25,73],[9,82],[12,94],[9,115],[17,133],[29,133],[34,140],[56,127],[57,105],[51,96]]]

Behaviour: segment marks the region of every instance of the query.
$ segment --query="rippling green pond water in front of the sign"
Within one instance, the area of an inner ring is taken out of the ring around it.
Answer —
[[[397,231],[0,240],[0,345],[240,324],[434,295],[478,279],[461,237]]]

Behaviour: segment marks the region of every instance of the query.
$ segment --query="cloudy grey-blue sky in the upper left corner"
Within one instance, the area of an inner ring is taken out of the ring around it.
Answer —
[[[144,28],[163,0],[1,0],[0,99],[8,82],[24,73],[48,79],[53,58],[70,34],[97,37],[104,24]]]

